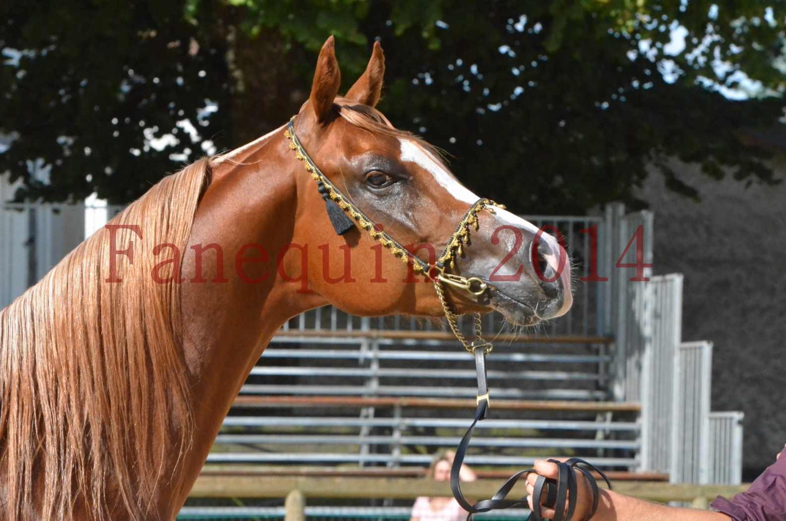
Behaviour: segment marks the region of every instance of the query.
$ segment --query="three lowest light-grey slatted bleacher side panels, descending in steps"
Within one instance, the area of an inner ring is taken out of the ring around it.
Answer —
[[[681,298],[678,274],[652,277],[630,297],[636,331],[646,334],[642,364],[627,366],[641,385],[641,470],[666,472],[674,483],[736,485],[743,415],[710,412],[712,343],[681,342]]]

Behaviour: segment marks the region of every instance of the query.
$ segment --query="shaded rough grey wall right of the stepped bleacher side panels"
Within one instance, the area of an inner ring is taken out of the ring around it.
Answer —
[[[702,201],[669,192],[652,172],[640,195],[655,212],[653,269],[685,274],[682,338],[714,342],[712,409],[745,413],[744,478],[753,479],[786,443],[786,183],[745,189],[673,166]],[[783,164],[777,171],[786,178]]]

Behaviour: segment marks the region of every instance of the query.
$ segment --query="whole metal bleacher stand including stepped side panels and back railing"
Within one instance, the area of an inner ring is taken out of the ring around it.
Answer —
[[[602,217],[527,219],[562,231],[575,278],[591,279],[594,263],[608,279],[578,284],[571,312],[536,330],[514,334],[497,314],[484,318],[495,346],[491,416],[467,463],[502,475],[544,456],[580,456],[616,479],[740,483],[743,416],[710,412],[712,347],[681,341],[681,275],[611,268],[619,252],[617,264],[651,266],[652,213],[610,205]],[[314,309],[289,320],[253,368],[206,471],[422,473],[468,427],[475,378],[472,357],[441,323]]]

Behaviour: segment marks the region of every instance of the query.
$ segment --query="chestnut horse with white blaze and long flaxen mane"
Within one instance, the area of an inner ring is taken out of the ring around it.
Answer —
[[[402,262],[377,240],[421,246],[419,262],[433,264],[478,197],[374,109],[383,74],[377,42],[339,97],[331,37],[293,131],[343,194],[336,208],[362,210],[387,235],[336,233],[281,127],[164,178],[0,312],[0,519],[173,519],[286,320],[327,304],[443,315],[412,255],[397,252]],[[490,290],[445,286],[451,309],[524,325],[566,312],[564,250],[544,234],[531,252],[534,226],[482,206],[446,271]]]

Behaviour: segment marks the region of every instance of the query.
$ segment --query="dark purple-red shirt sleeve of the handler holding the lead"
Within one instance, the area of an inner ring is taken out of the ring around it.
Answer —
[[[786,455],[767,467],[746,492],[731,501],[718,496],[710,508],[734,521],[786,521]]]

